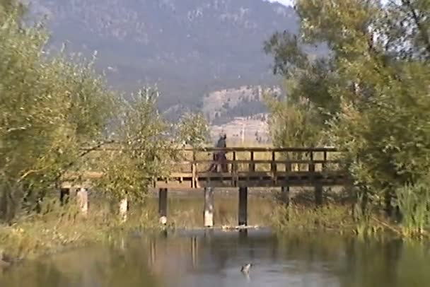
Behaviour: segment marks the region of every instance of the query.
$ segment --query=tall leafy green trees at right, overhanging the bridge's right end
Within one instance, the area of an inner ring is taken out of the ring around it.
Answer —
[[[266,43],[275,72],[293,83],[289,97],[316,108],[362,191],[406,192],[430,170],[429,1],[295,4],[300,36],[277,33]],[[330,49],[324,59],[305,57],[303,45],[321,42]]]

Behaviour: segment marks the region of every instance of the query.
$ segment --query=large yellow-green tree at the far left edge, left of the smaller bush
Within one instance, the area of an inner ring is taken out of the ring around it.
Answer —
[[[102,138],[112,93],[91,62],[74,64],[63,54],[47,59],[42,28],[23,29],[11,17],[0,37],[0,180],[8,187],[3,196],[14,198],[20,185],[33,195],[44,193],[79,160],[82,145]]]

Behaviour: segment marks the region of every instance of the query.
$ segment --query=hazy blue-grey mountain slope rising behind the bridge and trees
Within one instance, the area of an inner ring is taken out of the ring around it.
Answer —
[[[52,47],[97,50],[113,88],[156,84],[163,109],[196,108],[214,90],[276,84],[263,42],[298,29],[291,7],[262,0],[33,0],[30,11],[48,16]]]

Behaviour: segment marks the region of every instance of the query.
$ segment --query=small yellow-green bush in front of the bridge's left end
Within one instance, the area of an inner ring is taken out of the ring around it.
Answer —
[[[139,91],[125,103],[115,127],[114,147],[98,158],[98,170],[105,176],[98,188],[109,197],[142,199],[151,178],[167,175],[175,157],[173,144],[167,139],[169,125],[156,110],[158,91]]]

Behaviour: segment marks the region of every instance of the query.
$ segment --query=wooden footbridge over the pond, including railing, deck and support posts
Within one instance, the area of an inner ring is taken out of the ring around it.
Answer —
[[[214,163],[213,155],[219,151],[226,152],[224,167],[209,171]],[[152,184],[159,189],[159,213],[163,224],[167,222],[168,189],[204,188],[204,225],[212,226],[214,188],[238,187],[238,223],[246,225],[248,187],[281,187],[286,204],[289,187],[315,187],[315,202],[322,204],[323,187],[345,185],[348,180],[339,161],[340,153],[335,148],[184,148],[178,153],[186,160],[172,163],[174,168],[170,175],[158,177]],[[100,176],[100,172],[88,172],[83,177],[91,182],[91,178]],[[73,183],[65,180],[63,188],[71,187]]]

